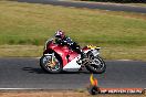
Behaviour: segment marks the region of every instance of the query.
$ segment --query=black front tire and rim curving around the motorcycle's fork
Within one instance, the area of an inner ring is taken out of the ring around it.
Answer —
[[[49,65],[50,58],[46,55],[43,55],[40,58],[40,66],[41,68],[46,72],[46,73],[52,73],[52,74],[58,74],[62,72],[62,60],[60,58],[60,56],[58,54],[54,53],[55,56],[55,61],[58,61],[58,64],[52,68]]]

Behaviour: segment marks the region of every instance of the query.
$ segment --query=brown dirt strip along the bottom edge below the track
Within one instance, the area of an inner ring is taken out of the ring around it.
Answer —
[[[87,91],[0,91],[0,97],[93,97]],[[94,97],[146,97],[142,94],[100,94]]]

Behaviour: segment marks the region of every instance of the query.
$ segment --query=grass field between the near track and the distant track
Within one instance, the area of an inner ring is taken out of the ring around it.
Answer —
[[[0,1],[0,56],[40,56],[60,29],[106,60],[146,61],[146,14]]]

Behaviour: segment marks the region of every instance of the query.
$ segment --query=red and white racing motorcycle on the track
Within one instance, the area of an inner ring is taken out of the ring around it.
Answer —
[[[48,40],[44,45],[40,66],[48,73],[77,72],[85,67],[91,73],[102,74],[106,69],[105,62],[100,57],[100,47],[87,45],[82,48],[86,58],[72,51],[66,45],[56,44],[54,40]]]

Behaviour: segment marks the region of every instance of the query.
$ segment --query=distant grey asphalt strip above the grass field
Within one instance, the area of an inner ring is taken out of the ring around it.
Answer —
[[[30,3],[43,3],[63,7],[75,7],[75,8],[87,8],[87,9],[101,9],[111,11],[127,11],[127,12],[138,12],[146,13],[146,7],[134,7],[125,4],[109,4],[109,3],[86,3],[86,2],[73,2],[63,0],[17,0],[19,2],[30,2]]]

